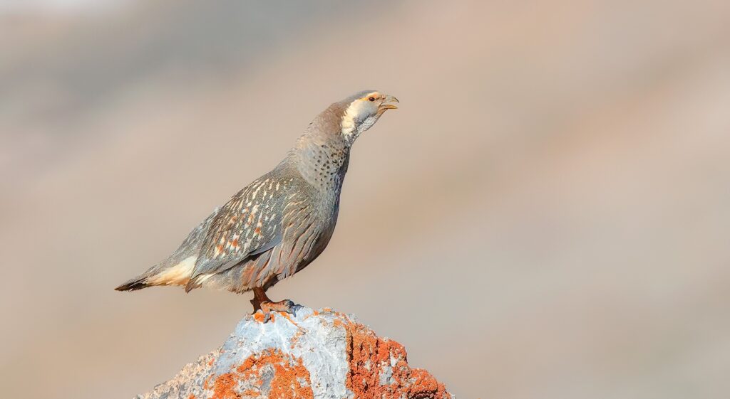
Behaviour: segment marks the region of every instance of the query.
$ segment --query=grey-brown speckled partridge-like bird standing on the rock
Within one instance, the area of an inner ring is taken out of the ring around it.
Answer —
[[[332,103],[273,170],[213,210],[170,256],[115,290],[177,285],[185,292],[253,291],[253,312],[295,312],[299,305],[291,299],[272,301],[266,291],[326,248],[337,224],[350,149],[385,111],[398,108],[393,103],[399,100],[377,90]]]

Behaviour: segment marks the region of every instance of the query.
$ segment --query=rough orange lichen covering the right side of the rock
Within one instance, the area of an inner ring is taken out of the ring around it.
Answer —
[[[406,350],[359,323],[343,323],[347,331],[350,373],[345,385],[358,399],[450,398],[444,384],[428,371],[408,366]]]

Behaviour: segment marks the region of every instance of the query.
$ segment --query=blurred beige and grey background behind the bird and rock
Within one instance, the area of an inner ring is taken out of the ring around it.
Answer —
[[[250,295],[113,288],[358,90],[339,225],[270,291],[458,398],[727,398],[730,2],[0,1],[0,379],[130,398]]]

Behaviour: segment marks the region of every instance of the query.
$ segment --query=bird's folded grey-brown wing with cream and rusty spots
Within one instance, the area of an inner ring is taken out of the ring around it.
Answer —
[[[197,285],[197,277],[223,272],[281,242],[285,191],[285,183],[260,178],[220,208],[204,239],[188,291]]]

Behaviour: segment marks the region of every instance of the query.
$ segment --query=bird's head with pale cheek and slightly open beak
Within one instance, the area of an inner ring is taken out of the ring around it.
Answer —
[[[375,125],[377,119],[383,116],[388,109],[396,109],[391,103],[398,103],[392,95],[383,94],[375,90],[358,92],[340,102],[342,106],[342,136],[347,143],[352,144],[361,133]]]

